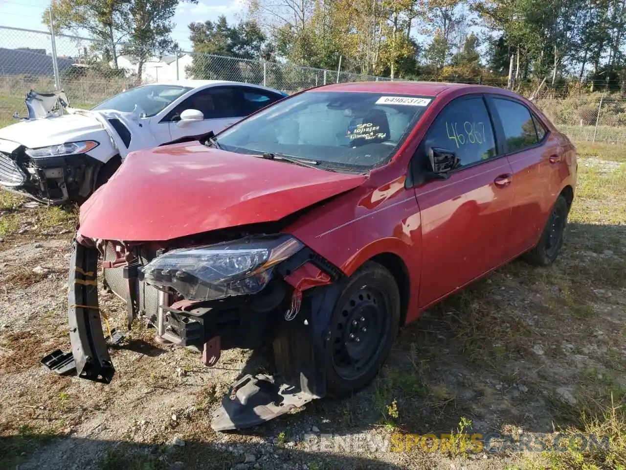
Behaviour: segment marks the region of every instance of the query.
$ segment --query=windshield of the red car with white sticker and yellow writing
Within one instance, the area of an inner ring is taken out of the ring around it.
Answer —
[[[217,136],[220,148],[275,153],[322,167],[369,170],[388,162],[432,98],[357,91],[306,91]]]

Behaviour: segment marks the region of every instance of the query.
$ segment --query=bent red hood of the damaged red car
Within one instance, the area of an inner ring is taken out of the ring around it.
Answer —
[[[165,241],[272,222],[365,180],[365,175],[233,154],[200,143],[157,147],[129,154],[81,206],[80,234]]]

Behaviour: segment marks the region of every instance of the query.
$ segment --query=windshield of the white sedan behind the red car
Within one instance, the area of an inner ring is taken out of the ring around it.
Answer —
[[[115,97],[109,98],[91,109],[113,109],[130,113],[137,105],[145,113],[145,117],[150,117],[161,112],[167,105],[189,90],[193,90],[193,88],[178,85],[143,85],[122,91],[119,95],[115,95]]]

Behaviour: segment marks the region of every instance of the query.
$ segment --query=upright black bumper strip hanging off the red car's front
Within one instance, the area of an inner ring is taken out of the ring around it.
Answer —
[[[69,341],[81,379],[109,384],[115,368],[98,306],[98,251],[74,240],[68,281]]]

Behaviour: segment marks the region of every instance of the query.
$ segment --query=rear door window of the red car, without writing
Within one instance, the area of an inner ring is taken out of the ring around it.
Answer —
[[[518,152],[538,144],[535,123],[530,111],[521,103],[492,98],[505,132],[506,152]]]

